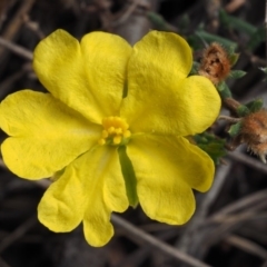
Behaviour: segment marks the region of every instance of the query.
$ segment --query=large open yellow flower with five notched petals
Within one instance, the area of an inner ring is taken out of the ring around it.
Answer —
[[[10,95],[0,126],[10,136],[1,146],[10,170],[32,180],[56,174],[38,207],[43,225],[70,231],[82,221],[87,241],[102,246],[113,234],[110,214],[135,205],[130,191],[152,219],[190,218],[192,188],[209,189],[214,164],[184,137],[208,128],[220,108],[207,78],[187,77],[191,65],[187,42],[167,32],[131,48],[109,33],[79,43],[57,30],[38,44],[33,68],[50,93]]]

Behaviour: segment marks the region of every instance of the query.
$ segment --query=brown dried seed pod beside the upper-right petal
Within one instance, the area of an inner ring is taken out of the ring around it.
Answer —
[[[204,51],[198,73],[218,85],[229,75],[230,67],[227,51],[219,43],[214,42]]]

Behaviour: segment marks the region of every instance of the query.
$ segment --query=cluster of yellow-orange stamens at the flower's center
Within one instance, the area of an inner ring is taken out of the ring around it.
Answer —
[[[99,145],[122,145],[128,141],[131,132],[128,130],[129,125],[120,117],[106,117],[102,119],[102,136]]]

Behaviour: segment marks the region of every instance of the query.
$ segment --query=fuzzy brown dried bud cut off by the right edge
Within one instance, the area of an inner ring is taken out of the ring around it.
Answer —
[[[248,149],[258,155],[266,164],[267,155],[267,110],[261,109],[244,117],[240,129],[241,141]]]

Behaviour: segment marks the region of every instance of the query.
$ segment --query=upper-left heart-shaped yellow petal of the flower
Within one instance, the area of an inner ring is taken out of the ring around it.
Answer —
[[[119,110],[130,52],[118,36],[92,32],[80,44],[57,30],[37,46],[33,68],[56,98],[100,123]]]

